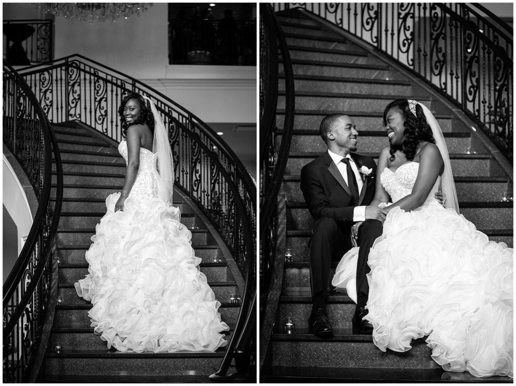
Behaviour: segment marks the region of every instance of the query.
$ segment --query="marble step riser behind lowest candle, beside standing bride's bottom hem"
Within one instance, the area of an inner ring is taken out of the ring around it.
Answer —
[[[224,339],[229,341],[233,331],[234,327],[221,333],[225,335]],[[61,354],[67,353],[68,350],[108,350],[107,342],[101,340],[100,335],[93,333],[93,327],[53,328],[47,353],[55,352],[56,345],[61,346]]]

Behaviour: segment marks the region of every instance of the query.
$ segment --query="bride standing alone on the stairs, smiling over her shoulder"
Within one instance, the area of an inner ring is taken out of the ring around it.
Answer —
[[[133,93],[119,108],[127,164],[121,193],[106,198],[79,296],[91,301],[91,326],[119,351],[213,351],[225,346],[219,301],[200,272],[191,232],[171,205],[173,162],[152,101]],[[156,169],[157,164],[157,169]]]

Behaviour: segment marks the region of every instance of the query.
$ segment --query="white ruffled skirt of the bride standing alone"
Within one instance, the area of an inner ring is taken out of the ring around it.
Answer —
[[[91,301],[91,326],[119,351],[213,351],[225,346],[219,301],[200,272],[179,208],[159,198],[106,198],[77,294]]]

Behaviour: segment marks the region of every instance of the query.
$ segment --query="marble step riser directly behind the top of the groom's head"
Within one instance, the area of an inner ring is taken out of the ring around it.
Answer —
[[[328,115],[342,111],[324,111],[324,110],[299,110],[296,109],[294,114],[294,129],[296,130],[319,130],[322,119]],[[378,131],[383,130],[383,111],[367,112],[367,111],[347,111],[353,119],[357,130],[360,133],[363,131]],[[469,131],[463,124],[456,121],[454,115],[437,114],[436,119],[439,121],[441,130],[443,132],[450,131]],[[279,109],[276,114],[276,126],[283,129],[285,120],[285,110]]]

